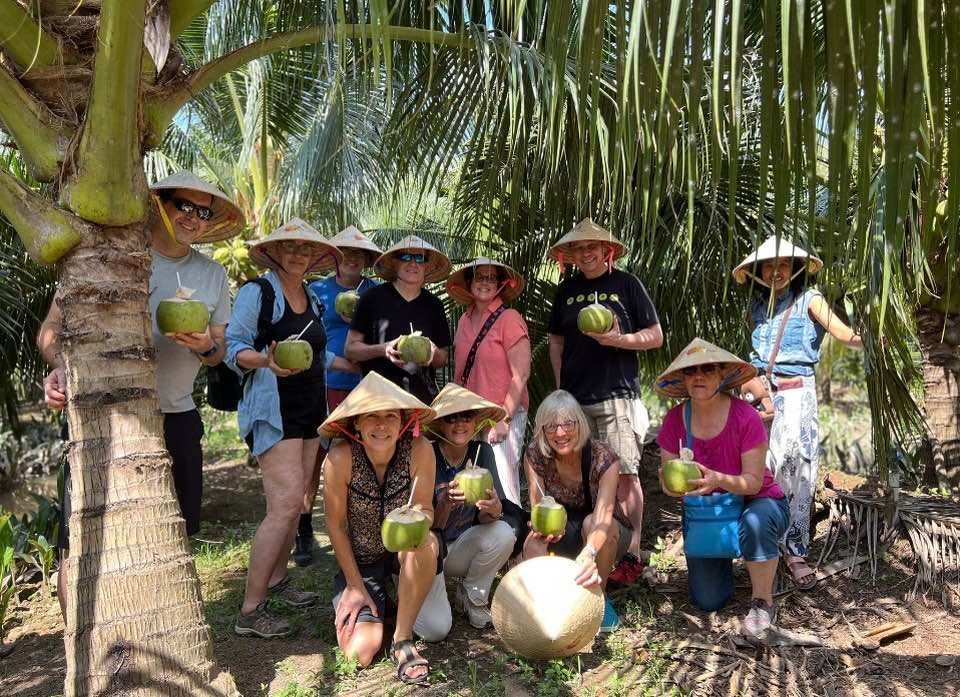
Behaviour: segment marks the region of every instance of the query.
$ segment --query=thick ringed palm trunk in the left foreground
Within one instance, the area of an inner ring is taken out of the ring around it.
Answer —
[[[65,695],[232,695],[215,676],[200,584],[157,408],[144,224],[91,227],[63,264],[73,511]]]

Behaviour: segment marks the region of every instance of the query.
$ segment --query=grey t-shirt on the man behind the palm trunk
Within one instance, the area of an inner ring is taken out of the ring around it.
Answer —
[[[153,323],[153,345],[157,347],[157,383],[160,411],[177,414],[196,409],[193,403],[193,382],[200,371],[200,359],[193,351],[168,339],[157,329],[157,307],[161,300],[177,292],[177,273],[181,283],[193,288],[192,299],[202,300],[210,311],[211,325],[230,321],[230,288],[227,272],[208,256],[195,249],[184,257],[173,259],[152,252],[150,274],[150,318]]]

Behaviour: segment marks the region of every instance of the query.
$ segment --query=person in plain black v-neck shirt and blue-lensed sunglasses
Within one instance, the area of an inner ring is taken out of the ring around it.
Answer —
[[[450,260],[410,235],[384,252],[375,269],[387,283],[361,296],[345,353],[364,375],[380,373],[429,404],[437,396],[436,368],[447,362],[452,341],[443,303],[423,286],[450,275]],[[430,359],[423,365],[404,362],[396,349],[397,340],[412,331],[430,340]]]

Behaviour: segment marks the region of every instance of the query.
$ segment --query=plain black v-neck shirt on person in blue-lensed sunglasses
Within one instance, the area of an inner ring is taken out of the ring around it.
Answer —
[[[452,343],[443,303],[427,290],[407,301],[392,283],[371,288],[360,296],[350,329],[363,334],[366,344],[382,344],[409,334],[411,324],[437,348],[448,348]],[[411,364],[404,369],[382,357],[365,361],[360,367],[364,375],[376,371],[427,404],[437,395],[436,371],[429,366]]]

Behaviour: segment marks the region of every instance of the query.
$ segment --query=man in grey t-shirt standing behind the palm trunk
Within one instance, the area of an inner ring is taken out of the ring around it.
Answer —
[[[203,423],[193,402],[193,383],[200,365],[218,365],[224,356],[224,329],[230,318],[230,287],[223,266],[194,245],[224,240],[244,227],[241,210],[217,187],[192,172],[178,172],[150,187],[150,317],[157,349],[157,394],[163,412],[164,436],[173,460],[173,482],[187,534],[200,529],[203,488]],[[179,280],[178,280],[179,274]],[[206,331],[165,335],[157,327],[157,307],[173,298],[179,286],[193,290],[210,312]],[[37,337],[44,358],[53,367],[44,380],[47,404],[66,406],[66,379],[60,359],[62,315],[54,301]],[[69,493],[70,487],[67,485]],[[65,531],[59,544],[69,541]],[[62,577],[62,575],[61,575]],[[64,597],[60,595],[61,599]]]

